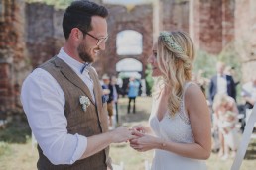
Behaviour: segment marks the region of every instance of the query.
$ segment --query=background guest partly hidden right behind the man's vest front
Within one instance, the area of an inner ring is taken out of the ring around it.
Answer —
[[[109,127],[112,128],[113,127],[113,99],[114,99],[114,92],[113,92],[113,86],[110,83],[110,77],[106,74],[104,74],[102,76],[102,80],[103,80],[103,85],[102,85],[102,89],[103,91],[107,90],[107,93],[105,93],[105,97],[107,99],[107,113],[108,113],[108,120],[109,120]]]

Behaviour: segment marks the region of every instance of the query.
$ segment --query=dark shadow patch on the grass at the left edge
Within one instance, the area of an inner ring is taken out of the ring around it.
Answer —
[[[26,143],[31,129],[25,117],[14,119],[5,128],[0,129],[0,142]]]

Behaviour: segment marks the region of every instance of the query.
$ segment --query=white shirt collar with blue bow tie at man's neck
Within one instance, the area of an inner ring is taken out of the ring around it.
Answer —
[[[67,53],[64,52],[64,48],[62,47],[59,54],[57,55],[59,58],[63,59],[64,62],[72,68],[74,72],[77,74],[82,74],[83,70],[88,70],[86,69],[88,66],[91,66],[91,63],[81,63],[75,59],[73,59],[71,56],[69,56]]]

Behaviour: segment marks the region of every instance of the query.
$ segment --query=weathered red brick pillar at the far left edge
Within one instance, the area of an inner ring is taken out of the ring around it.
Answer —
[[[22,111],[20,88],[31,68],[24,39],[24,8],[23,1],[0,2],[0,119]]]

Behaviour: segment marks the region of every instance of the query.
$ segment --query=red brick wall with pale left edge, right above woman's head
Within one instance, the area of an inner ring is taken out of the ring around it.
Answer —
[[[190,34],[196,48],[218,54],[234,40],[234,0],[191,0]]]

